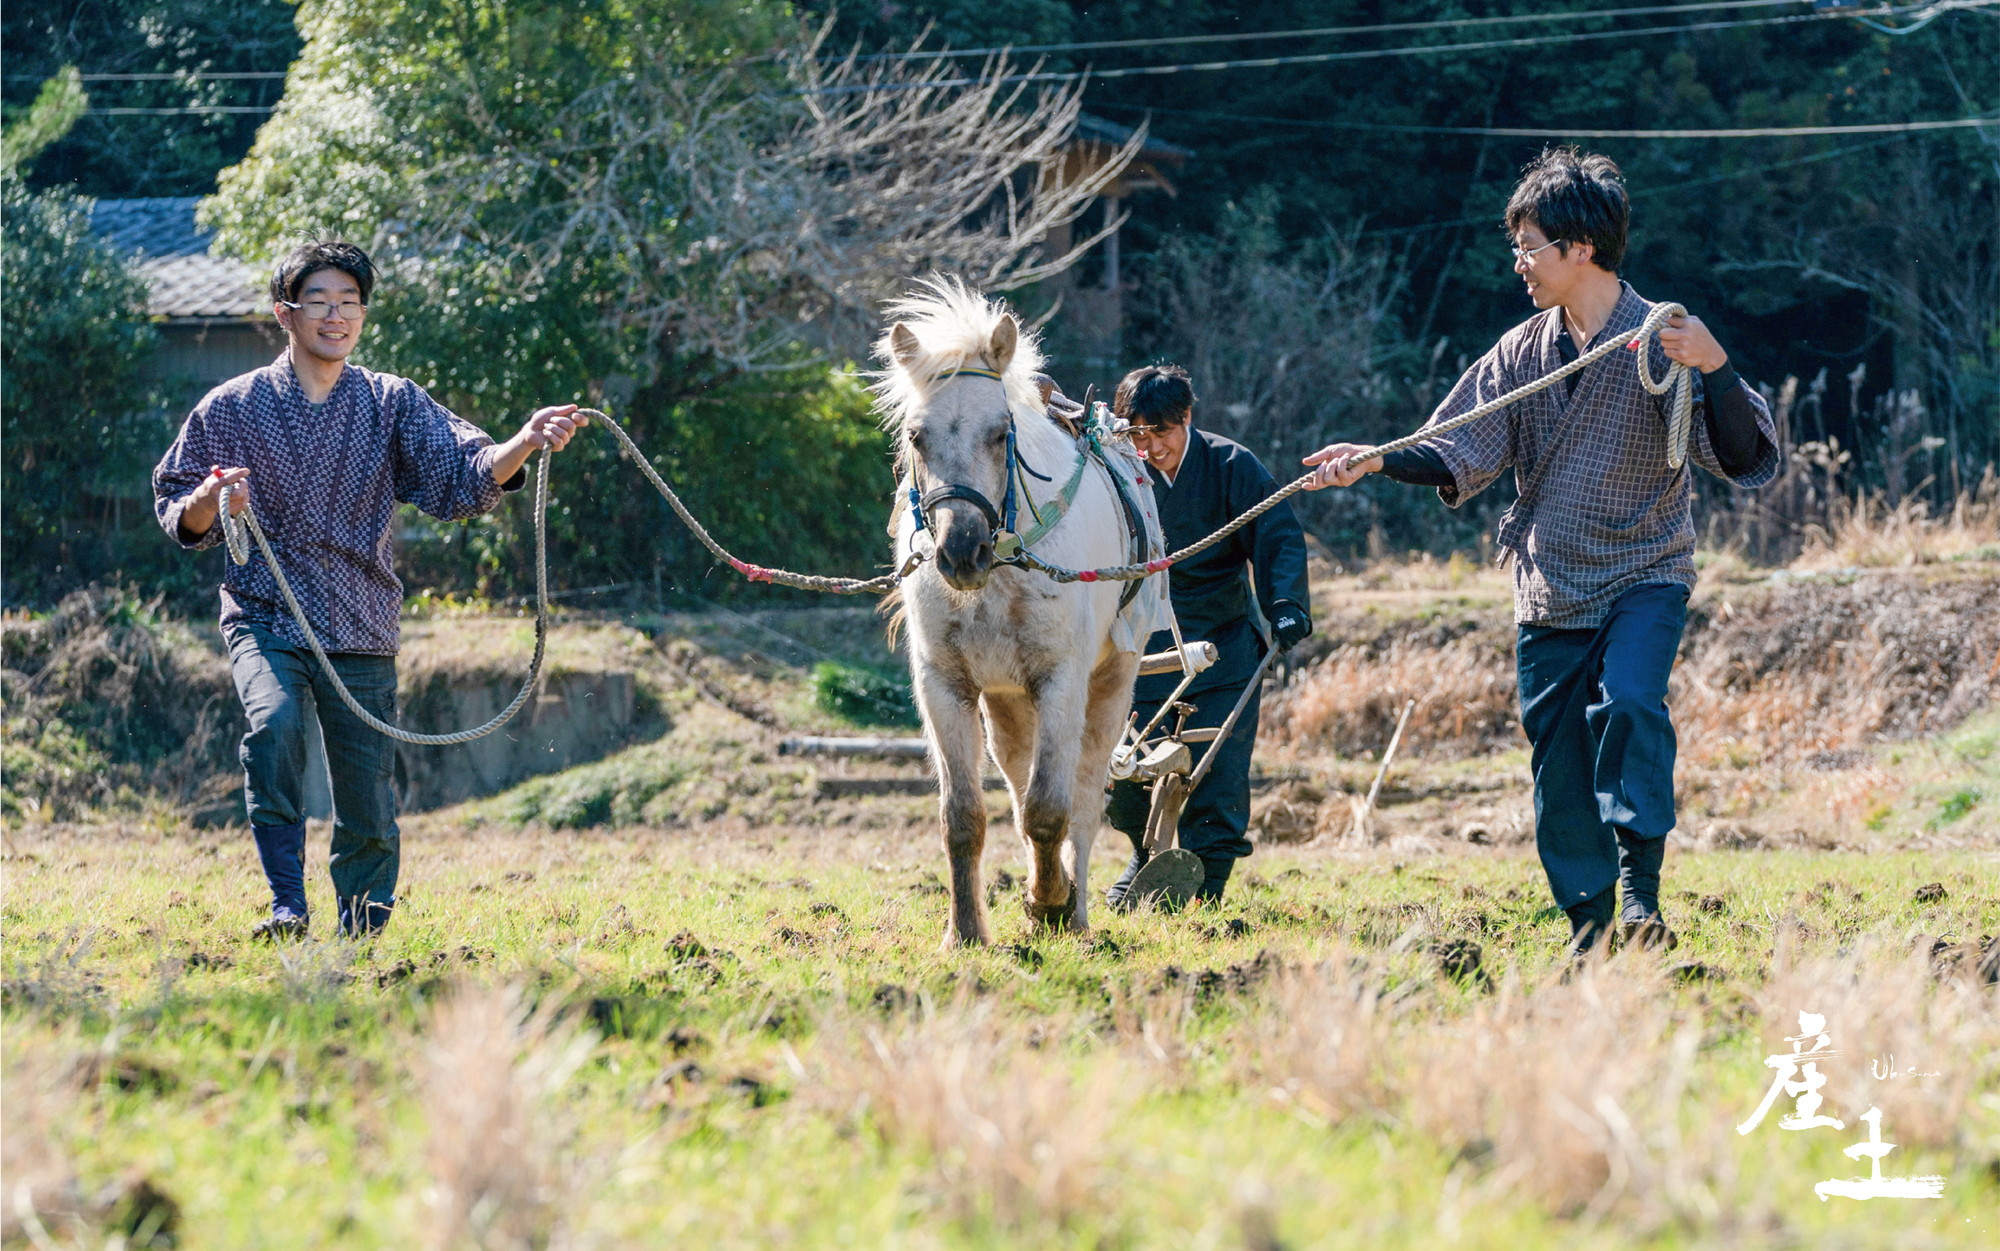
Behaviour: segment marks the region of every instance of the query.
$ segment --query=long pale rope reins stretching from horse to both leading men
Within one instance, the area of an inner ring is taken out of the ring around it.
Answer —
[[[1630,336],[1610,338],[1592,348],[1590,352],[1584,352],[1570,364],[1562,366],[1560,370],[1530,382],[1528,386],[1512,390],[1496,400],[1488,400],[1486,404],[1480,404],[1478,408],[1472,408],[1470,412],[1464,412],[1448,422],[1426,426],[1416,434],[1392,440],[1378,448],[1368,448],[1366,452],[1358,452],[1348,460],[1366,462],[1378,456],[1386,456],[1390,452],[1402,452],[1404,448],[1414,448],[1424,440],[1478,422],[1480,418],[1500,412],[1510,404],[1518,404],[1520,400],[1526,400],[1536,392],[1548,390],[1556,382],[1596,364],[1598,360],[1610,356],[1620,348],[1634,348],[1638,350],[1640,384],[1654,396],[1664,396],[1670,390],[1674,392],[1672,410],[1668,416],[1666,464],[1678,470],[1688,456],[1688,436],[1692,434],[1692,416],[1694,416],[1694,386],[1692,380],[1688,378],[1688,366],[1680,362],[1670,362],[1666,378],[1654,382],[1646,346],[1660,334],[1660,328],[1666,326],[1668,318],[1680,318],[1686,316],[1686,312],[1688,310],[1684,310],[1678,304],[1656,304],[1652,312],[1646,314],[1646,320],[1640,324],[1640,328]],[[996,376],[990,370],[962,370],[962,372],[968,374],[976,372],[988,378]],[[646,460],[646,456],[638,450],[638,444],[632,442],[632,436],[626,434],[622,426],[618,426],[606,414],[594,408],[580,408],[576,410],[576,416],[588,418],[590,422],[604,426],[604,430],[608,430],[612,438],[618,440],[618,446],[632,458],[632,464],[638,466],[640,474],[646,476],[646,482],[650,482],[652,488],[660,492],[660,496],[668,502],[668,506],[674,510],[674,516],[678,516],[688,526],[688,530],[694,532],[694,538],[698,538],[702,546],[708,548],[720,562],[724,562],[750,582],[768,582],[772,586],[790,586],[802,592],[826,592],[834,596],[884,594],[896,590],[896,586],[912,572],[916,572],[916,566],[922,562],[922,556],[912,552],[910,558],[904,562],[904,566],[894,574],[880,574],[876,578],[826,578],[820,574],[794,574],[790,570],[774,570],[766,566],[754,566],[746,560],[738,560],[734,554],[730,554],[728,548],[718,544],[712,534],[708,534],[708,528],[704,528],[694,518],[692,512],[688,512],[688,506],[682,504],[680,496],[674,494],[674,488],[670,488],[666,480],[660,478],[660,472],[652,468],[652,462]],[[1008,448],[1012,454],[1012,438],[1008,440]],[[1084,460],[1088,462],[1088,452],[1084,454]],[[1000,564],[1012,564],[1024,570],[1034,570],[1060,584],[1136,582],[1140,578],[1148,578],[1152,574],[1170,570],[1180,562],[1200,556],[1208,548],[1214,548],[1216,544],[1230,538],[1244,526],[1256,522],[1258,518],[1278,508],[1298,492],[1306,490],[1316,478],[1318,470],[1306,474],[1304,478],[1292,482],[1290,486],[1272,492],[1270,496],[1260,500],[1256,506],[1252,506],[1242,516],[1234,518],[1230,524],[1222,526],[1214,534],[1194,544],[1188,544],[1180,552],[1172,552],[1156,560],[1128,564],[1128,566],[1110,566],[1104,570],[1066,570],[1062,566],[1052,566],[1044,562],[1026,544],[1022,544],[1016,552],[1002,558]],[[1014,486],[1014,474],[1010,468],[1008,516],[1006,516],[1008,530],[1012,530],[1012,512],[1014,512],[1012,486]],[[236,486],[222,488],[220,516],[216,518],[218,524],[222,526],[222,538],[228,544],[230,560],[234,560],[238,566],[250,564],[250,544],[252,542],[256,544],[256,550],[264,554],[264,564],[270,568],[272,580],[278,584],[278,594],[284,596],[284,606],[292,610],[292,620],[298,622],[300,631],[306,635],[306,643],[318,657],[320,667],[326,671],[326,677],[334,683],[334,691],[340,695],[340,701],[346,703],[348,711],[360,717],[368,727],[378,729],[390,735],[392,739],[404,743],[416,743],[424,747],[448,747],[456,743],[470,743],[472,739],[484,737],[494,729],[500,729],[514,717],[514,713],[522,709],[522,705],[528,703],[528,695],[534,693],[536,683],[542,679],[542,663],[548,657],[548,450],[546,448],[542,450],[542,458],[534,474],[534,659],[528,661],[526,681],[522,681],[520,691],[514,693],[514,699],[504,709],[500,709],[490,721],[482,725],[474,725],[472,729],[458,729],[454,733],[416,733],[412,729],[402,729],[400,725],[390,725],[388,721],[376,717],[374,713],[370,713],[366,707],[360,705],[360,699],[354,697],[346,681],[340,679],[340,673],[334,671],[334,661],[326,655],[326,647],[320,645],[320,635],[312,629],[312,622],[306,620],[306,610],[300,608],[298,596],[292,594],[292,584],[290,580],[286,580],[284,570],[278,566],[278,556],[272,552],[270,540],[266,538],[264,526],[258,522],[256,512],[248,506],[242,510],[240,516],[232,512],[230,504],[236,490],[238,490]],[[992,506],[988,504],[986,508],[990,510]]]

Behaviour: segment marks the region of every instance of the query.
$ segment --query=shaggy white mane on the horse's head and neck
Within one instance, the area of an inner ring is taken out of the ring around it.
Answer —
[[[884,430],[902,432],[904,424],[924,412],[932,392],[938,390],[940,376],[964,368],[992,368],[986,360],[994,328],[1006,316],[1004,300],[988,300],[968,288],[952,274],[932,274],[920,278],[916,290],[894,300],[886,310],[888,330],[874,344],[882,370],[870,374],[876,382],[876,412]],[[890,334],[896,324],[904,324],[916,334],[918,358],[908,368],[896,362],[890,348]],[[1000,384],[1006,388],[1008,408],[1016,416],[1042,412],[1042,392],[1034,376],[1042,372],[1042,348],[1026,328],[1020,332],[1020,346],[1014,360],[1006,364]]]

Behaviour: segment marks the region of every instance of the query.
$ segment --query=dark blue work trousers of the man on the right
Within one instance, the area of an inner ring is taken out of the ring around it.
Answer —
[[[1636,887],[1658,909],[1660,853],[1674,829],[1666,679],[1686,624],[1688,588],[1644,584],[1620,596],[1596,629],[1520,627],[1534,841],[1564,909],[1604,895],[1620,869],[1628,899]],[[1610,895],[1602,903],[1608,909]]]

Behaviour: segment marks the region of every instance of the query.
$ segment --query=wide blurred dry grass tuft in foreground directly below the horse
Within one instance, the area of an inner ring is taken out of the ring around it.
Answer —
[[[978,1005],[890,1031],[834,1021],[818,1063],[820,1099],[928,1155],[942,1205],[968,1225],[1068,1229],[1108,1207],[1106,1137],[1138,1095],[1136,1069],[1106,1059],[1078,1073]]]

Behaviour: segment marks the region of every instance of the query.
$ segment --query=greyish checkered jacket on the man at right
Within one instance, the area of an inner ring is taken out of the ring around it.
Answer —
[[[1582,352],[1620,334],[1630,336],[1652,304],[1630,284],[1610,320]],[[1562,310],[1540,312],[1506,332],[1482,356],[1428,426],[1448,422],[1562,368],[1556,344]],[[1652,376],[1666,376],[1666,352],[1648,344]],[[1666,466],[1666,420],[1672,396],[1640,386],[1632,352],[1612,352],[1586,368],[1574,394],[1562,382],[1510,404],[1470,426],[1426,440],[1450,468],[1452,486],[1438,496],[1458,508],[1508,468],[1524,498],[1500,520],[1502,554],[1514,554],[1514,620],[1524,626],[1594,629],[1618,596],[1646,582],[1694,586],[1694,484],[1700,466],[1740,488],[1758,488],[1778,474],[1778,428],[1770,406],[1744,386],[1756,408],[1756,466],[1730,476],[1716,460],[1702,420],[1700,374],[1694,392],[1694,432],[1688,460]],[[1540,478],[1540,482],[1536,482]],[[1530,490],[1534,488],[1534,490]]]

